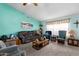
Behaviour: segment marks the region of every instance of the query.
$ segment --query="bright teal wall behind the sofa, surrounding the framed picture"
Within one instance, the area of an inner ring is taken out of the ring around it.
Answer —
[[[33,24],[32,29],[21,28],[21,22],[25,21]],[[29,18],[22,12],[7,4],[0,4],[0,35],[11,34],[18,31],[31,31],[39,29],[40,21]]]

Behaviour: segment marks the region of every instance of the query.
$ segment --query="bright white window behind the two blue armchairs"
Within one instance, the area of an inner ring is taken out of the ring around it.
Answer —
[[[52,35],[58,35],[59,30],[66,30],[68,34],[68,23],[49,24],[46,27],[47,30],[52,31]]]

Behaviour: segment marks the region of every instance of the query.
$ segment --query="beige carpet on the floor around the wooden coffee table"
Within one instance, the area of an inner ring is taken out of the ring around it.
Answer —
[[[22,47],[26,50],[27,56],[79,56],[79,47],[61,45],[56,42],[50,42],[40,50],[32,48],[32,43],[24,44]]]

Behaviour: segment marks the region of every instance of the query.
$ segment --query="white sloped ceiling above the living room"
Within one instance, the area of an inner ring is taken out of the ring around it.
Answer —
[[[9,5],[40,21],[53,20],[68,15],[79,15],[79,3],[39,3],[38,6],[10,3]]]

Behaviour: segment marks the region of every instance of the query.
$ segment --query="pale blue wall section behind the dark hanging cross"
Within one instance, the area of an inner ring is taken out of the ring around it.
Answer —
[[[76,24],[74,24],[77,20],[79,21],[79,16],[71,17],[70,23],[69,23],[69,30],[73,29],[76,32],[75,38],[79,39],[79,25],[78,25],[78,28],[76,28]]]

